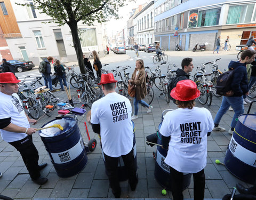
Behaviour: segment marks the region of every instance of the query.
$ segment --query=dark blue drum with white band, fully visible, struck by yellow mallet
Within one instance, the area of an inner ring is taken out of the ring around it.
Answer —
[[[63,131],[52,127],[39,132],[46,151],[59,177],[71,177],[87,164],[84,142],[77,122],[72,117],[54,119],[42,127],[60,124]]]

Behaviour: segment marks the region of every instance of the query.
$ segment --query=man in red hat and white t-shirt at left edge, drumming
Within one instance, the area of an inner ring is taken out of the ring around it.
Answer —
[[[31,179],[43,185],[47,178],[42,177],[42,170],[47,163],[38,165],[38,151],[33,143],[32,134],[36,132],[29,123],[36,123],[25,113],[18,92],[20,81],[12,73],[0,74],[0,132],[4,141],[16,148],[25,163]]]

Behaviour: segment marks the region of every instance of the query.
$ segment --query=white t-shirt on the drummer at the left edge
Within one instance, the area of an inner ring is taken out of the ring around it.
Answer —
[[[11,117],[11,123],[17,126],[29,128],[28,118],[25,114],[18,94],[7,95],[0,92],[0,119]],[[14,142],[26,138],[26,133],[14,133],[0,129],[2,139],[6,142]]]

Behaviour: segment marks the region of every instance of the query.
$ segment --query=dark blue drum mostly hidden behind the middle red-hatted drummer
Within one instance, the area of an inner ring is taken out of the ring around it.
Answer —
[[[136,170],[137,170],[137,150],[136,150],[136,140],[135,140],[135,126],[134,126],[134,122],[133,121],[132,121],[132,127],[133,127],[133,148],[132,148],[132,150],[133,150],[134,162],[135,162]],[[101,143],[100,143],[100,147],[101,147],[101,151],[102,151],[103,161],[105,163],[105,158],[104,158],[104,154],[103,154]],[[124,166],[124,162],[123,162],[122,157],[119,157],[117,170],[118,170],[119,181],[126,181],[126,180],[128,180],[127,169]]]

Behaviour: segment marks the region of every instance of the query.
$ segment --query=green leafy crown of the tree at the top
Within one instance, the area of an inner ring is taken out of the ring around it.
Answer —
[[[34,5],[20,4],[22,6],[34,6],[35,9],[49,15],[60,26],[67,23],[82,21],[90,26],[94,21],[106,22],[114,17],[118,19],[117,11],[124,6],[125,1],[116,0],[33,0]]]

